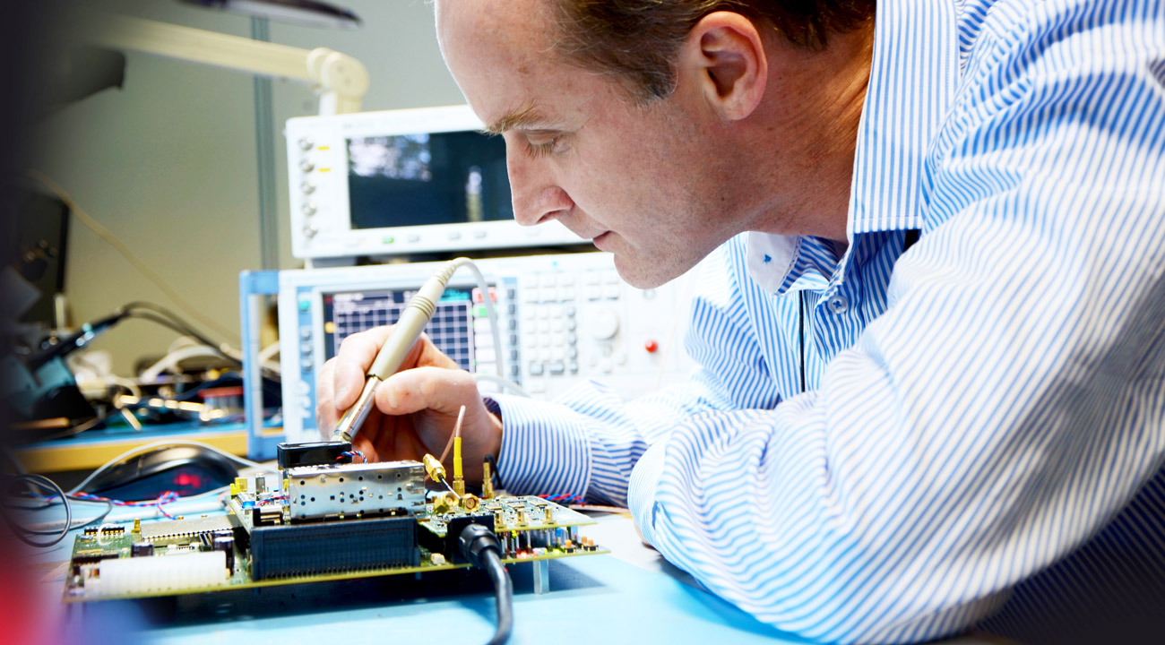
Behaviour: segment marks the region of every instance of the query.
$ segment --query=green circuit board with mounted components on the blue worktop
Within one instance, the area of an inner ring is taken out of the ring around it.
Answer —
[[[595,522],[560,504],[433,495],[419,462],[332,462],[344,446],[316,463],[281,459],[277,475],[236,480],[221,515],[86,529],[73,544],[64,601],[466,568],[457,538],[467,524],[494,532],[507,565],[608,553],[579,534]]]

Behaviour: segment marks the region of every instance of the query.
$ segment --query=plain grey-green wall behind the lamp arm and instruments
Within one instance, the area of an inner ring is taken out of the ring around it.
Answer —
[[[372,85],[365,109],[461,102],[433,36],[432,9],[422,0],[340,0],[359,14],[359,30],[324,30],[271,23],[273,42],[330,47],[359,58]],[[171,0],[110,0],[126,15],[249,36],[245,16]],[[282,123],[317,113],[311,92],[274,81],[277,210],[281,268],[302,263],[290,253]],[[259,192],[249,76],[192,63],[128,54],[122,90],[105,90],[72,104],[34,129],[33,165],[153,267],[199,311],[235,334],[238,276],[259,269]],[[108,313],[129,300],[177,309],[110,244],[73,220],[66,292],[73,321]],[[220,338],[213,329],[199,328]],[[160,355],[175,334],[127,321],[93,347],[114,355],[129,374],[142,355]],[[236,342],[238,336],[230,339]]]

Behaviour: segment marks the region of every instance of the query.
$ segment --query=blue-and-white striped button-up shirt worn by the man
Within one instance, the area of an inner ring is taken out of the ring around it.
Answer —
[[[743,233],[691,382],[497,397],[508,488],[626,503],[824,642],[1038,637],[1165,579],[1165,3],[880,2],[857,136],[840,260]]]

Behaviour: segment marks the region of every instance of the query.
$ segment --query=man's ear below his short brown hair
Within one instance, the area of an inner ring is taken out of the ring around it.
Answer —
[[[764,95],[769,62],[756,24],[732,12],[713,12],[687,35],[679,75],[696,83],[705,100],[728,120],[756,109]]]

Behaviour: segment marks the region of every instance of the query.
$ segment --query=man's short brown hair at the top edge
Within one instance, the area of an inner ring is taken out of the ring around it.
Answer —
[[[693,27],[713,12],[739,13],[775,29],[789,44],[822,50],[829,34],[874,16],[876,0],[552,0],[558,51],[580,66],[613,75],[638,102],[669,95],[675,58]]]

